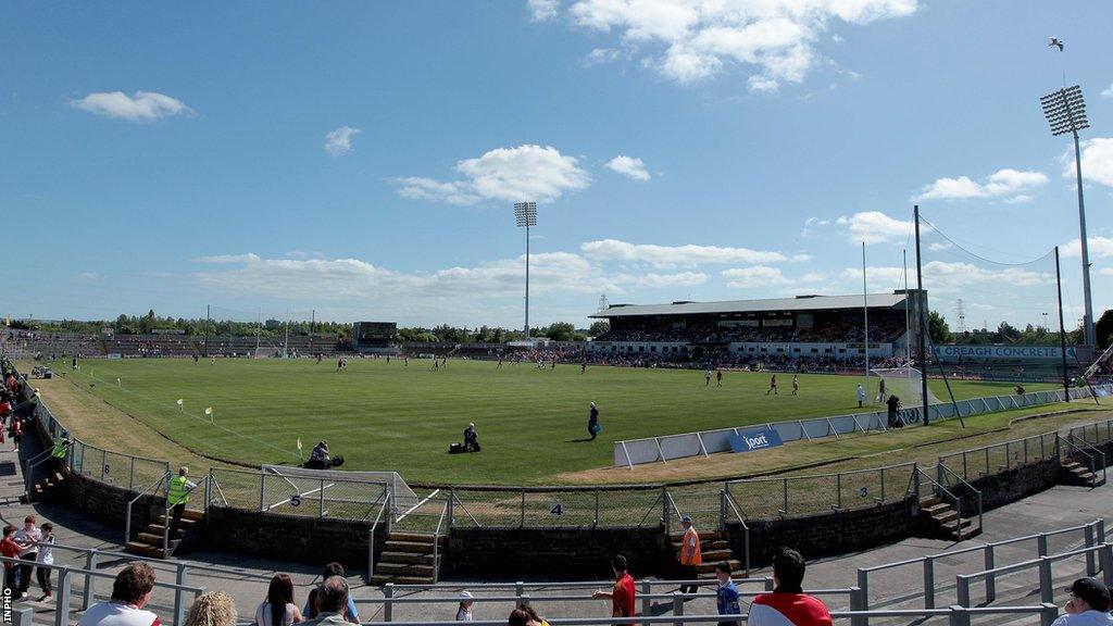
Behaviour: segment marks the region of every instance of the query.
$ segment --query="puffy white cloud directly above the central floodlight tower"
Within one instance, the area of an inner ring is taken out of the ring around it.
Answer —
[[[583,189],[591,177],[575,157],[552,146],[523,145],[495,148],[477,158],[456,163],[464,180],[443,183],[432,178],[393,178],[398,194],[410,198],[476,204],[482,200],[548,203],[565,192]]]

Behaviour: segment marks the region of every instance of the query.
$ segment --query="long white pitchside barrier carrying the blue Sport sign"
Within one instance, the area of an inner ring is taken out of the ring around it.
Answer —
[[[1091,389],[1097,395],[1109,395],[1113,392],[1113,385],[1104,384],[1095,388],[1071,389],[1072,400],[1081,400],[1092,395]],[[1066,399],[1064,390],[1033,391],[1024,394],[996,395],[991,398],[975,398],[962,400],[954,403],[932,404],[928,409],[930,421],[948,420],[961,415],[979,415],[996,411],[1007,411],[1011,409],[1023,409],[1063,402]],[[923,423],[923,409],[920,407],[909,407],[902,409],[900,419],[903,422],[912,424]],[[821,439],[825,437],[841,437],[854,432],[867,432],[871,430],[886,430],[888,427],[888,414],[885,411],[873,411],[866,413],[855,413],[850,415],[838,415],[834,418],[814,418],[810,420],[795,420],[769,422],[758,424],[747,424],[737,428],[722,428],[716,430],[702,430],[698,432],[686,432],[681,434],[667,434],[662,437],[650,437],[646,439],[627,439],[614,442],[614,467],[628,467],[633,469],[636,464],[652,463],[656,461],[667,462],[673,459],[687,457],[710,456],[716,452],[727,452],[730,448],[730,439],[740,434],[760,434],[761,432],[776,432],[781,441],[799,441]]]

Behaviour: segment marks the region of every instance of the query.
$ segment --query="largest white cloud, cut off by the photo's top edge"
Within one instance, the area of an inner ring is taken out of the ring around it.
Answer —
[[[643,65],[680,84],[751,70],[754,91],[800,82],[816,65],[815,45],[831,22],[869,25],[910,16],[916,0],[579,0],[573,23],[618,32],[628,48],[653,51]],[[836,36],[837,37],[837,36]]]

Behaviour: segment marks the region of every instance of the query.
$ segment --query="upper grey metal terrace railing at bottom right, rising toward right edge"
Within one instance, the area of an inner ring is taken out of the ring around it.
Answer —
[[[1083,524],[1078,526],[1071,526],[1067,528],[1060,528],[1057,530],[1051,530],[1047,532],[1038,532],[1034,535],[1025,535],[1022,537],[1013,537],[1011,539],[1004,539],[1001,541],[994,541],[992,544],[985,544],[982,546],[972,546],[968,548],[958,548],[954,550],[946,550],[942,552],[936,552],[932,555],[925,555],[923,557],[916,557],[912,559],[887,563],[881,565],[875,565],[871,567],[859,567],[858,568],[858,579],[857,586],[863,590],[866,598],[866,608],[869,607],[869,589],[870,589],[870,575],[878,571],[886,571],[896,568],[914,567],[919,566],[923,569],[923,587],[918,588],[914,593],[900,595],[897,597],[889,598],[890,603],[894,601],[907,601],[917,597],[923,596],[925,608],[935,608],[936,595],[939,591],[947,590],[952,588],[951,586],[937,586],[935,583],[935,563],[938,559],[947,559],[951,557],[956,557],[959,555],[967,555],[973,552],[983,552],[984,567],[988,574],[985,576],[985,587],[986,587],[986,599],[993,600],[996,598],[996,571],[998,561],[998,550],[1006,546],[1017,546],[1021,544],[1034,542],[1036,560],[1048,555],[1048,540],[1053,537],[1063,535],[1080,534],[1081,539],[1086,547],[1100,547],[1104,541],[1105,537],[1105,522],[1104,520],[1097,519],[1089,524]],[[1091,555],[1092,557],[1092,555]],[[1025,561],[1027,563],[1027,561]],[[1106,571],[1106,576],[1113,576],[1113,564],[1109,569],[1102,564],[1102,570]],[[1092,558],[1087,559],[1086,571],[1089,575],[1093,575],[1095,569],[1095,564]]]

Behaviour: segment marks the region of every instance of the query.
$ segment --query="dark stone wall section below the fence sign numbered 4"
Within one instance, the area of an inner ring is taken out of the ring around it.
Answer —
[[[637,577],[671,576],[673,555],[663,527],[453,528],[442,575],[485,580],[607,580],[610,559],[624,555]]]

